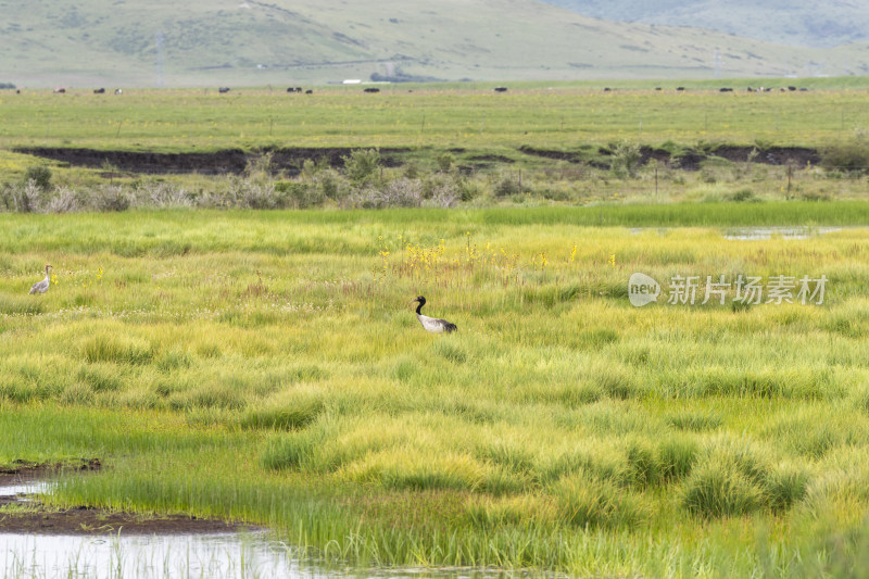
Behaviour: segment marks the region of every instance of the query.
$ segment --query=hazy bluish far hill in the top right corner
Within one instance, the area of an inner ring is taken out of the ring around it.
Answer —
[[[608,21],[691,26],[798,47],[869,42],[865,0],[545,0]]]

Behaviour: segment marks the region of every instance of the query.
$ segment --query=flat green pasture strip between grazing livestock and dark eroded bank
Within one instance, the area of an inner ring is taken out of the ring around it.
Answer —
[[[809,92],[780,92],[790,84]],[[818,147],[867,123],[860,79],[753,79],[691,83],[0,92],[0,146],[188,151],[264,146],[569,149],[629,139],[650,144],[727,141]],[[719,93],[719,86],[736,92]],[[769,93],[747,86],[772,86]],[[664,88],[664,87],[662,87]]]

